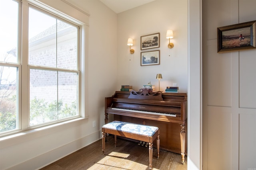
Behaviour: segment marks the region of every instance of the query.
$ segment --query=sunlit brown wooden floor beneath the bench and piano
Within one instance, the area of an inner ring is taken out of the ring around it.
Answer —
[[[161,139],[160,139],[161,143]],[[102,154],[102,141],[96,141],[41,170],[148,170],[148,147],[137,143],[118,139],[114,147],[114,137],[108,136],[105,144],[105,155]],[[156,148],[153,149],[153,170],[187,170],[181,163],[180,154],[160,149],[160,157],[156,158]]]

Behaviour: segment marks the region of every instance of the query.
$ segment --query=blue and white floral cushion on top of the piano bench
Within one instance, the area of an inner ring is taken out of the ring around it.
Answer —
[[[112,121],[106,125],[103,125],[103,127],[145,136],[153,136],[154,133],[158,130],[158,127],[138,125],[135,123],[128,123],[123,121]]]

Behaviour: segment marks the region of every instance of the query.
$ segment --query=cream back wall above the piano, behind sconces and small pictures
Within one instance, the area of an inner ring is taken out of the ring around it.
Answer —
[[[166,31],[173,30],[174,47],[167,47]],[[160,48],[143,51],[160,50],[160,65],[140,66],[140,37],[160,33]],[[186,0],[156,0],[118,14],[118,82],[121,85],[133,85],[139,90],[151,82],[158,90],[156,74],[161,73],[160,90],[177,83],[180,92],[187,92],[188,84],[188,6]],[[128,38],[134,40],[129,53]],[[170,56],[169,56],[170,55]]]

